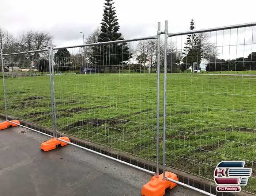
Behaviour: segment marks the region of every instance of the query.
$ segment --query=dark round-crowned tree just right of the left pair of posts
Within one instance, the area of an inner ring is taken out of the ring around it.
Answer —
[[[59,49],[55,54],[54,54],[54,62],[59,64],[59,70],[60,71],[66,71],[68,70],[68,62],[71,59],[71,55],[69,51],[65,49]]]

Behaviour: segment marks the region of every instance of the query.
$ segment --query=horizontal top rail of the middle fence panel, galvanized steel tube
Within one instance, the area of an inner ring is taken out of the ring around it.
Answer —
[[[157,38],[158,38],[157,35],[155,35],[155,36],[149,36],[149,37],[143,37],[143,38],[122,39],[122,40],[115,40],[110,42],[98,42],[98,43],[82,44],[77,46],[56,47],[56,48],[53,48],[53,50],[59,50],[64,48],[86,47],[86,46],[101,46],[105,44],[117,44],[122,42],[133,42],[133,41],[141,41],[141,40],[157,39]]]

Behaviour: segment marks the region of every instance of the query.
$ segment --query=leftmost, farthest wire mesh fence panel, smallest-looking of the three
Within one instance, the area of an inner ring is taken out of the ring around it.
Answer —
[[[5,54],[3,65],[7,114],[26,121],[29,128],[52,128],[48,52]]]

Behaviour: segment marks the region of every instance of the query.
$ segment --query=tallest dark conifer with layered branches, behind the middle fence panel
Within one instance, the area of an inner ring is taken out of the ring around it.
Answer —
[[[101,23],[101,33],[98,42],[109,42],[115,40],[123,40],[123,36],[119,31],[116,10],[113,7],[113,0],[105,0],[104,13]],[[127,43],[104,44],[93,47],[91,62],[101,66],[115,66],[123,64],[132,58],[132,53]]]

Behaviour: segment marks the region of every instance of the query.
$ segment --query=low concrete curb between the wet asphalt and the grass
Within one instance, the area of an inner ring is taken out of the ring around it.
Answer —
[[[0,113],[0,118],[5,119],[5,114]],[[34,124],[32,122],[24,121],[22,119],[18,119],[18,118],[12,117],[12,116],[8,116],[8,120],[19,120],[21,125],[26,126],[28,128],[35,129],[35,130],[38,130],[43,133],[47,133],[49,135],[52,135],[52,133],[53,133],[52,129]],[[77,138],[74,136],[70,136],[70,135],[58,132],[58,137],[63,137],[63,136],[69,137],[70,142],[72,142],[74,144],[78,144],[80,146],[83,146],[84,148],[88,148],[88,149],[94,150],[96,152],[105,154],[107,156],[114,157],[118,160],[122,160],[122,161],[128,162],[130,164],[139,166],[141,168],[156,172],[156,164],[151,161],[147,161],[147,160],[144,160],[139,157],[135,159],[134,156],[131,154],[120,152],[120,151],[117,151],[117,150],[107,147],[107,146],[102,146],[99,144],[95,144],[95,143],[86,141],[81,138]],[[175,173],[178,176],[178,180],[180,182],[191,185],[191,186],[199,188],[199,189],[202,189],[204,191],[207,191],[207,192],[212,193],[217,196],[252,196],[252,194],[248,194],[244,191],[238,192],[238,193],[219,193],[216,191],[216,184],[209,180],[190,175],[188,173],[182,172],[180,170],[177,170],[177,169],[174,169],[171,167],[166,167],[166,170],[169,172]],[[159,173],[160,174],[162,173],[162,165],[159,165]],[[149,180],[150,179],[148,179],[148,181]]]

